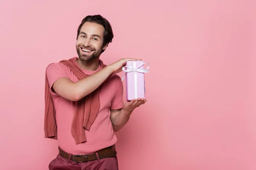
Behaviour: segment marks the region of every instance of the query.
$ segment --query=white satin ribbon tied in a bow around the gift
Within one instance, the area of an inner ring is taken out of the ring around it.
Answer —
[[[135,92],[135,99],[137,99],[137,72],[140,72],[140,73],[148,73],[148,68],[149,68],[149,63],[148,62],[144,62],[141,66],[143,66],[144,64],[148,64],[148,67],[147,68],[140,68],[140,67],[137,67],[136,68],[136,62],[133,62],[134,65],[133,66],[125,66],[122,68],[122,71],[124,71],[125,73],[128,73],[128,72],[135,72],[135,75],[134,75],[134,92]],[[125,68],[128,68],[128,69],[125,69]],[[125,73],[122,77],[122,80],[125,78]]]

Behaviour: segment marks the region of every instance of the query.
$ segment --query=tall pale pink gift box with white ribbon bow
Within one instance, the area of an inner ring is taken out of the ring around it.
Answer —
[[[148,73],[148,68],[144,68],[147,62],[127,61],[122,70],[125,72],[126,100],[144,98],[145,99],[145,79],[144,74]],[[122,78],[123,80],[123,78]]]

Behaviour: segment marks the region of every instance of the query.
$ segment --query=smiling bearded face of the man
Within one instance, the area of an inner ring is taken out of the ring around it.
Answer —
[[[107,45],[102,47],[104,31],[104,27],[100,24],[84,23],[76,41],[76,51],[79,59],[91,61],[100,56],[102,49],[107,48]]]

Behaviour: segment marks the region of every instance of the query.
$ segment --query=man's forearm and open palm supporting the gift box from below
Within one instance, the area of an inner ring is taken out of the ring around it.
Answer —
[[[131,102],[125,103],[122,109],[111,110],[110,119],[114,132],[120,130],[128,122],[134,109],[145,104],[146,101],[146,99],[134,99]]]

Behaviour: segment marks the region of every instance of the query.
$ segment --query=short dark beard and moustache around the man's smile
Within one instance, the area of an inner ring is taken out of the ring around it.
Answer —
[[[83,52],[81,52],[82,51],[81,48],[92,50],[92,52],[90,52],[89,54],[84,54]],[[78,47],[76,47],[76,51],[79,56],[79,59],[81,59],[82,61],[91,61],[100,56],[102,47],[100,48],[100,50],[96,50],[94,47],[90,47],[90,46],[85,47],[84,45],[78,45]]]

